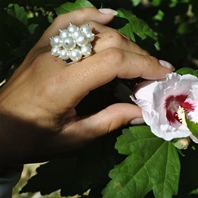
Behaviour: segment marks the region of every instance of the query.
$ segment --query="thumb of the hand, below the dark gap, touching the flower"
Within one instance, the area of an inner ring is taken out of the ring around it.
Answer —
[[[113,104],[96,114],[81,118],[70,124],[63,131],[63,136],[67,137],[67,131],[69,131],[70,134],[74,134],[73,138],[78,137],[81,141],[92,140],[129,124],[135,118],[141,117],[141,109],[136,105],[127,103]],[[64,138],[62,139],[64,140]]]

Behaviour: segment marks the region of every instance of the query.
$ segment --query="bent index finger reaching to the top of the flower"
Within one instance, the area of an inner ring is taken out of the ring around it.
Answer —
[[[72,82],[71,91],[75,90],[73,99],[79,99],[116,77],[161,79],[172,70],[160,65],[152,56],[109,48],[71,65],[65,72],[68,81]]]

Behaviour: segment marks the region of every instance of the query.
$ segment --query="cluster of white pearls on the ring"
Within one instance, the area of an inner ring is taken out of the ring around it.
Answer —
[[[78,27],[70,23],[67,29],[59,29],[60,34],[50,38],[51,55],[68,62],[76,62],[92,53],[91,42],[95,35],[89,24]]]

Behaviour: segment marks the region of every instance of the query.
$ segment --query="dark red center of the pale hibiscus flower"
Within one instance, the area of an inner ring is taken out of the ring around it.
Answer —
[[[166,118],[168,119],[170,124],[175,124],[176,122],[180,122],[177,111],[179,106],[184,108],[185,112],[194,111],[193,104],[186,102],[188,95],[187,94],[180,94],[177,96],[169,96],[166,98],[165,101],[165,108],[166,108]]]

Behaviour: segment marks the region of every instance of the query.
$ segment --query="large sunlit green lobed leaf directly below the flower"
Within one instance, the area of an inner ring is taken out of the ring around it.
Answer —
[[[131,127],[123,130],[116,149],[128,156],[110,171],[104,198],[143,198],[151,190],[155,198],[177,194],[180,162],[171,142],[154,136],[148,126]]]

